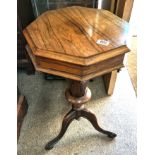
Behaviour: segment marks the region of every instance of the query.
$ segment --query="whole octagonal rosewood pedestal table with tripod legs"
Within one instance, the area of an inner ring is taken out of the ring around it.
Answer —
[[[65,95],[72,109],[64,116],[58,136],[45,149],[53,148],[69,124],[80,117],[109,138],[116,137],[98,125],[84,104],[91,98],[87,81],[94,77],[105,74],[108,94],[112,94],[111,81],[129,51],[127,32],[128,23],[109,11],[77,6],[47,11],[25,28],[26,48],[35,69],[71,81]]]

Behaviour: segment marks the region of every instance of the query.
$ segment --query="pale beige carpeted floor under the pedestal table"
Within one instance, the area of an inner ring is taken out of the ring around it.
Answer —
[[[18,73],[18,86],[29,104],[18,155],[136,155],[136,96],[126,69],[118,74],[112,96],[106,96],[101,77],[89,82],[92,100],[86,107],[94,111],[101,127],[118,134],[115,140],[109,140],[81,118],[72,122],[53,150],[44,150],[58,134],[62,118],[70,109],[64,96],[67,84],[44,80],[41,73]]]

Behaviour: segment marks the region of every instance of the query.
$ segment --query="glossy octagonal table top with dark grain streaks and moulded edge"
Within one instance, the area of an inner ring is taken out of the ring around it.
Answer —
[[[106,10],[74,6],[47,11],[23,33],[35,56],[82,66],[129,51],[128,23]],[[97,44],[98,39],[109,45]]]

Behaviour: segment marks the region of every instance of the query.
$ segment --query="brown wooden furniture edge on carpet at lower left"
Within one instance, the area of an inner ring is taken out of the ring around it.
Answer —
[[[25,96],[21,95],[19,88],[17,87],[17,141],[20,136],[20,129],[23,119],[27,113],[28,104]]]

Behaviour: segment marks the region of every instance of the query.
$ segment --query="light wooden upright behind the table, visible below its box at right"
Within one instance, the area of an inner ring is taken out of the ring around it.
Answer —
[[[108,74],[103,75],[105,90],[108,95],[113,94],[116,78],[117,78],[117,70],[114,70]]]

